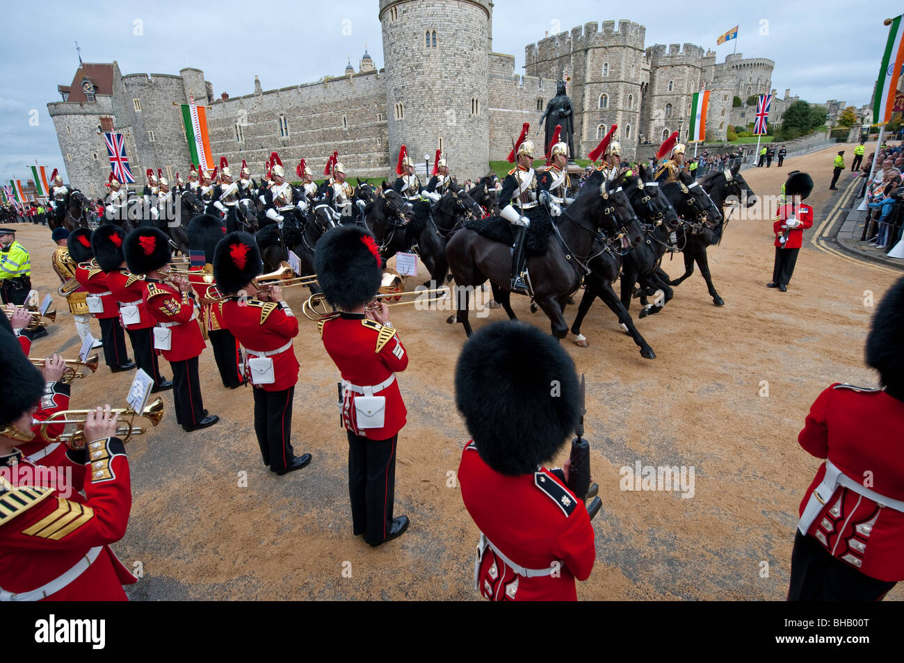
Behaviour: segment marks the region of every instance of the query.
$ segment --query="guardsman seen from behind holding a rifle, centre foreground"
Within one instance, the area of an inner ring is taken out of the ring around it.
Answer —
[[[530,361],[524,358],[529,357]],[[491,601],[576,601],[596,559],[570,463],[542,466],[579,422],[578,378],[558,341],[522,322],[494,322],[465,344],[456,401],[472,441],[458,467],[480,529],[476,589]]]

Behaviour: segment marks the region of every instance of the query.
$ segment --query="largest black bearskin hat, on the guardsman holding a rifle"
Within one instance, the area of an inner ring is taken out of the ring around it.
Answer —
[[[456,405],[477,453],[496,472],[536,472],[579,421],[574,362],[558,341],[523,322],[494,322],[465,343]]]

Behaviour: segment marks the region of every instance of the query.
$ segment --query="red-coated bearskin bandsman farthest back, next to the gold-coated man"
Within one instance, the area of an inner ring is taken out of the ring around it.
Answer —
[[[70,257],[76,262],[75,280],[88,292],[88,310],[100,323],[100,341],[104,344],[104,360],[114,373],[135,368],[128,358],[126,335],[119,323],[119,307],[107,285],[107,272],[94,260],[91,231],[75,229],[67,240]]]

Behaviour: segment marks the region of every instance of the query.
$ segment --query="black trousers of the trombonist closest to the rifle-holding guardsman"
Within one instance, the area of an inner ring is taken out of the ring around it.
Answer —
[[[369,440],[348,434],[348,494],[352,500],[352,531],[372,546],[382,543],[392,526],[395,495],[395,448],[399,435]]]

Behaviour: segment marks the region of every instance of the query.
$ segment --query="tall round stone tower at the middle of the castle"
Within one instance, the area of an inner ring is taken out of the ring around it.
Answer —
[[[441,147],[459,181],[489,170],[492,14],[492,0],[380,0],[393,172],[401,145],[431,168]]]

